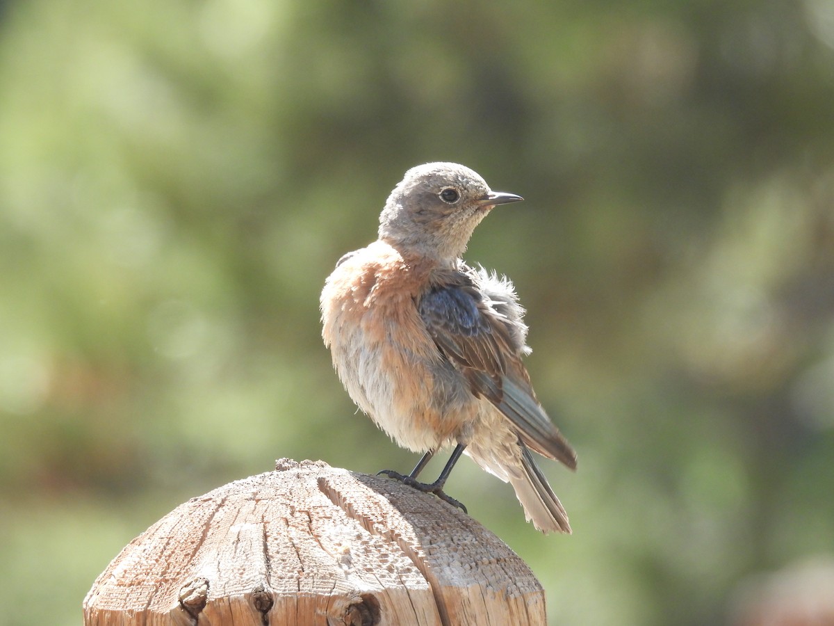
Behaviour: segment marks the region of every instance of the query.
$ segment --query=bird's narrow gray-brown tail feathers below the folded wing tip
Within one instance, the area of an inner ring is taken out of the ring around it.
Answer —
[[[521,506],[524,507],[527,521],[533,521],[535,528],[542,533],[569,533],[570,524],[565,508],[547,483],[547,478],[536,467],[530,450],[519,442],[521,447],[521,467],[523,472],[511,472],[510,484],[515,489]]]

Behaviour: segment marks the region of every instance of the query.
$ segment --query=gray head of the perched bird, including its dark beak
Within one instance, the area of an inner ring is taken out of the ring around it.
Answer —
[[[477,173],[456,163],[409,169],[379,215],[379,239],[401,253],[452,261],[466,250],[472,231],[497,204],[520,195],[491,191]]]

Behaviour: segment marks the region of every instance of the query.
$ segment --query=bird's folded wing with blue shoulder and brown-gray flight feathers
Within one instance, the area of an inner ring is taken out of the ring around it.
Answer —
[[[440,352],[465,376],[472,393],[492,402],[535,452],[576,467],[575,452],[535,398],[508,322],[477,287],[469,279],[434,286],[418,309]]]

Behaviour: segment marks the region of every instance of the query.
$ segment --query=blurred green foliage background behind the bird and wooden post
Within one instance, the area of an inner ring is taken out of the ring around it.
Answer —
[[[529,310],[575,533],[469,460],[448,491],[551,623],[754,623],[830,569],[830,0],[5,0],[0,622],[80,623],[133,537],[276,457],[413,466],[318,297],[429,160],[525,197],[466,256]]]

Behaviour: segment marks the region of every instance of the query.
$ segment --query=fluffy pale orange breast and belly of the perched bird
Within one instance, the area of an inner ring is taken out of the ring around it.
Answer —
[[[324,343],[353,400],[413,450],[438,447],[459,426],[440,411],[442,357],[416,302],[433,268],[374,242],[339,265],[322,292]]]

